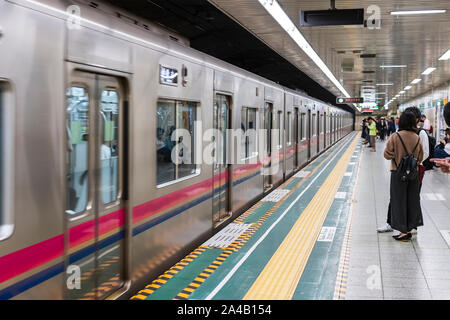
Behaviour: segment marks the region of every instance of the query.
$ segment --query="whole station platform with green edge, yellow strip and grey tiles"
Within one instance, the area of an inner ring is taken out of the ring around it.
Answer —
[[[377,233],[389,162],[353,132],[132,300],[450,298],[450,178],[427,171],[424,227],[409,242]]]

